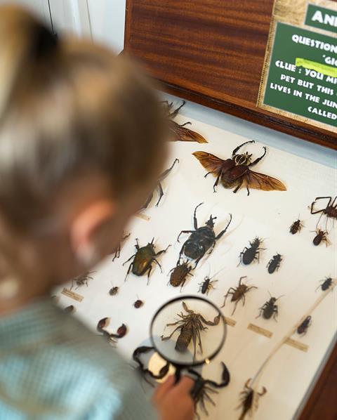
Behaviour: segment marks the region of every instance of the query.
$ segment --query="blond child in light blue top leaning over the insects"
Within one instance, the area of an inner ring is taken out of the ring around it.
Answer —
[[[0,419],[191,420],[192,379],[145,400],[131,367],[55,307],[154,188],[166,125],[126,58],[0,6]]]

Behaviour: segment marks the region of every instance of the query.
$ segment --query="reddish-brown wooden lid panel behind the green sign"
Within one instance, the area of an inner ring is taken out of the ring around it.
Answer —
[[[272,0],[127,0],[124,50],[169,93],[337,149],[337,136],[256,107]]]

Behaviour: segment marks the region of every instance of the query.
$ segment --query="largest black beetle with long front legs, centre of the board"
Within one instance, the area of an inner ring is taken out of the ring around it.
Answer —
[[[208,251],[211,248],[211,251],[213,250],[213,247],[216,244],[216,241],[220,239],[220,237],[223,236],[225,231],[227,230],[228,226],[230,225],[230,222],[232,221],[232,214],[230,214],[230,221],[228,222],[226,228],[222,230],[217,236],[214,233],[214,220],[216,220],[216,217],[210,216],[209,220],[206,221],[206,225],[202,226],[201,228],[198,228],[198,221],[197,221],[197,208],[201,206],[200,203],[197,205],[197,207],[194,209],[194,230],[182,230],[178,236],[178,242],[179,237],[182,233],[190,233],[190,237],[187,239],[187,241],[183,244],[183,247],[180,250],[178,263],[180,262],[180,258],[183,254],[187,256],[188,258],[191,258],[192,260],[195,260],[194,268],[197,267],[197,264],[201,260],[201,258],[206,254],[206,251]],[[211,253],[210,251],[210,253]]]

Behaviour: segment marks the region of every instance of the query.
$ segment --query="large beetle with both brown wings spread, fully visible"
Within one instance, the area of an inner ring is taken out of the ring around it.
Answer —
[[[224,188],[234,188],[233,192],[237,192],[240,188],[246,187],[247,195],[249,195],[249,188],[263,191],[286,191],[285,185],[272,176],[265,175],[264,173],[258,173],[251,171],[250,167],[258,164],[261,159],[265,156],[267,149],[263,147],[263,155],[252,161],[251,156],[248,152],[237,154],[239,149],[249,143],[255,143],[255,140],[246,141],[236,147],[232,152],[230,159],[220,159],[215,155],[207,152],[194,152],[192,155],[196,157],[202,166],[209,173],[213,173],[216,176],[216,182],[213,185],[213,190],[216,192],[216,186],[219,181]]]

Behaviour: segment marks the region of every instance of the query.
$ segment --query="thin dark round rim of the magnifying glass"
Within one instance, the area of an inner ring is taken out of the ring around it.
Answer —
[[[161,351],[158,350],[158,348],[156,346],[156,343],[154,343],[154,339],[153,339],[152,329],[153,329],[154,321],[157,318],[157,315],[161,312],[161,310],[166,308],[166,306],[171,305],[171,303],[177,302],[177,301],[184,301],[184,299],[194,299],[196,301],[203,301],[203,302],[209,303],[211,306],[213,306],[214,309],[216,309],[216,311],[220,315],[220,318],[223,320],[223,338],[221,339],[218,348],[211,355],[209,355],[209,357],[204,357],[204,359],[200,360],[199,362],[177,363],[176,361],[171,360],[169,357],[166,357],[166,355],[161,353]],[[187,294],[185,296],[178,296],[176,298],[173,298],[173,299],[167,301],[163,305],[161,305],[157,309],[157,311],[154,313],[154,315],[152,317],[151,324],[150,324],[150,340],[151,340],[151,343],[152,343],[152,346],[154,347],[154,349],[157,351],[159,356],[163,357],[163,359],[166,360],[166,362],[170,362],[172,365],[180,366],[180,367],[200,366],[200,365],[204,365],[204,363],[206,363],[207,360],[209,360],[209,361],[212,360],[214,357],[216,357],[216,355],[218,355],[220,350],[223,348],[223,344],[225,343],[226,336],[227,336],[227,324],[225,322],[225,317],[223,316],[223,314],[220,311],[220,308],[218,308],[218,306],[216,306],[213,302],[209,301],[209,299],[201,298],[200,296],[194,296],[192,294]]]

